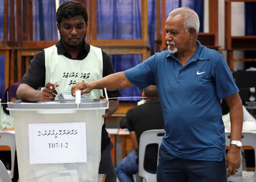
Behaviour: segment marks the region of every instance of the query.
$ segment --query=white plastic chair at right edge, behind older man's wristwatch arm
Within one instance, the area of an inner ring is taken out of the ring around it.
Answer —
[[[225,133],[225,139],[226,139],[226,146],[229,146],[230,143],[230,133]],[[255,163],[256,163],[256,153],[255,153],[255,149],[256,149],[256,134],[254,133],[242,133],[242,145],[243,146],[251,146],[254,148],[254,159],[255,159]],[[241,155],[241,159],[242,159],[242,155]],[[240,166],[240,170],[230,176],[228,178],[228,181],[241,181],[241,182],[256,182],[256,168],[254,171],[254,174],[252,176],[243,176],[242,175],[242,163]]]

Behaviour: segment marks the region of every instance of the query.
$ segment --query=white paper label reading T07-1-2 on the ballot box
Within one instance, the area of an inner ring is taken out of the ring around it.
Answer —
[[[28,124],[30,164],[87,162],[85,122]]]

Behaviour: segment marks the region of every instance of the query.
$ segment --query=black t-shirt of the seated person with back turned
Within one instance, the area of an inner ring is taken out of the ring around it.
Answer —
[[[139,137],[146,130],[163,129],[164,120],[160,101],[156,99],[147,100],[146,103],[131,108],[126,113],[127,126],[130,132],[134,131],[139,144]],[[158,146],[151,145],[146,148],[144,168],[156,170]]]

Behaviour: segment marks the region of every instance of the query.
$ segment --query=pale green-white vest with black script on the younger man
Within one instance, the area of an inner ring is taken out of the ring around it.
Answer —
[[[90,52],[84,60],[72,60],[63,54],[57,54],[55,45],[44,49],[46,60],[46,83],[52,81],[59,84],[61,93],[71,92],[72,86],[78,82],[90,82],[102,78],[103,58],[100,48],[90,45]],[[92,90],[88,99],[98,99],[102,90]]]

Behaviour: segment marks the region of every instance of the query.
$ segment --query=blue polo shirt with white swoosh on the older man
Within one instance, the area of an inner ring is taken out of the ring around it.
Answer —
[[[183,159],[222,161],[225,133],[220,100],[239,90],[224,57],[197,41],[195,54],[181,66],[176,54],[156,53],[125,71],[139,88],[156,84],[163,109],[163,145]]]

